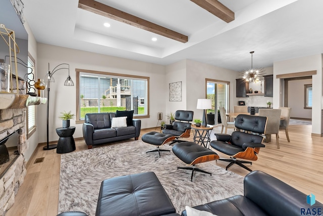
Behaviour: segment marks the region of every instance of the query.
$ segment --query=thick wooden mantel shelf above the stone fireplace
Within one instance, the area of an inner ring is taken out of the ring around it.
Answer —
[[[22,109],[30,105],[45,104],[47,98],[28,94],[0,93],[0,110]]]

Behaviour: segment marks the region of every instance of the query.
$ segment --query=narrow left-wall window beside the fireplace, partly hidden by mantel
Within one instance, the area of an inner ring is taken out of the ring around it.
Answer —
[[[28,55],[28,89],[35,92],[35,60]],[[27,106],[27,139],[36,131],[36,105]]]

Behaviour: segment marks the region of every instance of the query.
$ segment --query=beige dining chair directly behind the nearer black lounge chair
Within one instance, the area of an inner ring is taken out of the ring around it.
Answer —
[[[276,134],[276,142],[277,148],[279,147],[279,125],[281,121],[281,113],[280,109],[259,109],[258,116],[267,117],[267,125],[264,131],[266,136],[265,142],[270,142],[272,138],[272,134]]]

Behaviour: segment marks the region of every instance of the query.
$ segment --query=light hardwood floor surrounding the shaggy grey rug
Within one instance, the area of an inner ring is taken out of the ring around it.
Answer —
[[[247,166],[252,170],[261,170],[275,176],[305,194],[313,193],[317,201],[323,202],[323,138],[311,137],[311,127],[289,126],[290,143],[287,142],[285,133],[280,132],[281,148],[277,149],[276,139],[273,138],[270,143],[264,143],[266,147],[260,150],[258,160]],[[141,135],[153,130],[142,129]],[[216,127],[212,135],[220,131],[221,127]],[[228,131],[231,133],[232,129]],[[188,140],[192,141],[192,137],[191,134]],[[94,147],[102,146],[104,145]],[[15,204],[6,215],[57,215],[61,155],[56,153],[56,149],[44,151],[42,148],[43,146],[38,146],[30,159],[24,183],[19,188]],[[76,151],[86,149],[84,141],[76,141]],[[225,157],[221,153],[219,155]],[[43,162],[33,164],[39,157],[44,157]],[[223,168],[228,164],[225,161],[214,163]],[[229,170],[241,176],[249,173],[237,165],[233,165]]]

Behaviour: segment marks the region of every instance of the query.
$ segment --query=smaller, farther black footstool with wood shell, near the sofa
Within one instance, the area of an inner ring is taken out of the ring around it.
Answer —
[[[149,143],[151,145],[157,146],[156,149],[146,151],[146,153],[158,151],[159,157],[160,157],[160,151],[171,151],[171,150],[159,149],[159,146],[164,145],[165,143],[168,143],[170,141],[173,141],[174,139],[175,139],[175,136],[172,134],[163,134],[155,131],[146,133],[141,137],[142,141]]]

